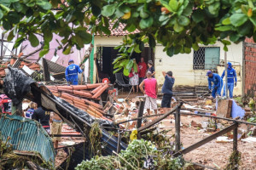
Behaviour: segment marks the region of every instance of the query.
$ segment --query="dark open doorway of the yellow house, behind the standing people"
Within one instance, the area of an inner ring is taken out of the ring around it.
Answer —
[[[99,82],[101,82],[103,78],[108,78],[111,83],[115,82],[112,62],[113,59],[115,59],[118,56],[118,54],[119,50],[114,49],[114,47],[97,47],[96,66],[98,75],[96,79],[99,80]],[[144,58],[144,61],[146,63],[148,63],[148,60],[153,60],[154,63],[153,49],[146,47],[143,49],[142,53],[133,53],[131,55],[131,59],[136,59],[137,63],[140,61],[141,57]]]

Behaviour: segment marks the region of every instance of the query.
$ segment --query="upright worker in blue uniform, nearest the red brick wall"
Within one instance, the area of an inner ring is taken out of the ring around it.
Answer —
[[[230,99],[233,98],[233,90],[234,86],[236,87],[236,82],[237,82],[237,77],[236,77],[236,70],[232,68],[232,64],[228,62],[228,69],[227,69],[227,74],[228,74],[228,83],[224,84],[224,92],[223,96],[226,95],[226,84],[228,85],[228,90],[230,91]],[[223,71],[221,78],[225,76],[225,71]],[[235,81],[234,81],[235,79]],[[234,85],[235,82],[235,85]]]

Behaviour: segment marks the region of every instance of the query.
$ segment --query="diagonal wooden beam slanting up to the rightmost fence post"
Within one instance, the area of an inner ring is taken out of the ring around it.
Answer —
[[[232,129],[236,128],[236,127],[237,127],[237,124],[234,123],[230,127],[226,127],[223,130],[219,131],[218,133],[214,133],[211,136],[207,137],[206,139],[202,139],[201,141],[199,141],[199,142],[197,142],[195,144],[190,145],[188,148],[185,148],[183,150],[177,151],[173,156],[180,156],[180,155],[183,155],[183,154],[187,154],[187,153],[189,153],[189,151],[195,150],[196,148],[199,148],[203,144],[207,144],[211,140],[216,139],[218,136],[221,136],[221,135],[223,135],[225,133],[230,132],[230,130],[232,130]]]

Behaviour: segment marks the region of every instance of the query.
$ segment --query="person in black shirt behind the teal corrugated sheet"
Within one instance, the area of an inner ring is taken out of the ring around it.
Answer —
[[[47,133],[50,132],[49,127],[49,111],[44,111],[41,106],[38,107],[32,114],[32,119],[41,123],[42,127],[46,130]]]

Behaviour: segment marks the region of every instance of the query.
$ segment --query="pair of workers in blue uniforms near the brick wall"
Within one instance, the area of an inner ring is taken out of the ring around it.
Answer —
[[[212,92],[213,99],[216,98],[216,94],[218,96],[221,96],[221,91],[222,91],[223,85],[224,85],[223,96],[226,95],[225,86],[228,86],[228,91],[230,92],[230,99],[233,98],[233,90],[234,90],[234,87],[236,87],[237,77],[236,77],[236,70],[234,68],[232,68],[232,65],[230,62],[227,65],[228,81],[225,84],[223,83],[224,76],[225,76],[225,71],[223,71],[223,74],[221,77],[216,73],[212,73],[212,71],[207,71],[208,88],[209,88],[209,91]],[[212,86],[212,82],[213,82],[213,86]]]

